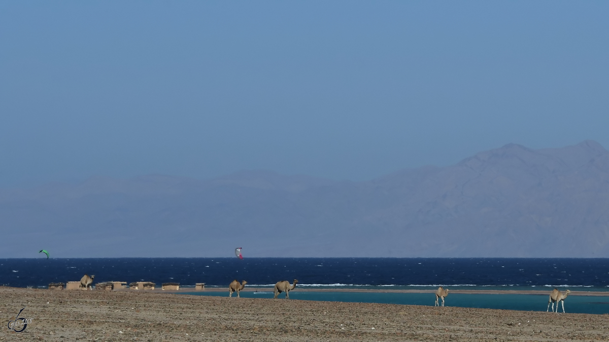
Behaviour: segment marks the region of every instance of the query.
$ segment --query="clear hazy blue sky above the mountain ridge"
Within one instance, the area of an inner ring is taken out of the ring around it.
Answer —
[[[0,187],[609,148],[607,18],[607,1],[2,1]]]

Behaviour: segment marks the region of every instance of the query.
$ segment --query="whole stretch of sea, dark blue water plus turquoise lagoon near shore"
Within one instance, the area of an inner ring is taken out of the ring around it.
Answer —
[[[51,282],[178,282],[182,288],[205,282],[227,287],[233,279],[248,287],[269,287],[298,279],[305,288],[392,288],[609,291],[609,259],[440,259],[440,258],[104,258],[0,259],[0,284],[46,288]],[[199,295],[202,293],[199,293]],[[205,295],[225,295],[207,292]],[[264,298],[272,293],[248,292]],[[290,292],[291,299],[433,305],[419,293]],[[547,295],[451,294],[447,305],[493,309],[546,309]],[[609,313],[609,297],[570,296],[567,312]]]

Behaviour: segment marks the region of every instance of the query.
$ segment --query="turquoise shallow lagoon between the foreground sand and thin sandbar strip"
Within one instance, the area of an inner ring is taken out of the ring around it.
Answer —
[[[197,296],[228,296],[227,292],[192,292]],[[233,293],[233,297],[236,294]],[[243,298],[273,298],[271,291],[243,291]],[[477,307],[483,309],[503,309],[521,311],[546,311],[548,295],[470,295],[451,294],[445,298],[446,306]],[[285,298],[282,293],[278,298]],[[298,292],[290,291],[290,299],[303,301],[330,302],[365,302],[403,305],[434,305],[432,293],[371,293],[371,292]],[[442,301],[440,301],[442,305]],[[565,311],[568,313],[609,313],[609,297],[601,296],[568,296],[565,299]],[[562,307],[559,310],[562,313]]]

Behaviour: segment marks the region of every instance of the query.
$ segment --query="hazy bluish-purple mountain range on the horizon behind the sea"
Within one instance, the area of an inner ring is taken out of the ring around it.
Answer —
[[[0,257],[609,257],[609,152],[481,152],[372,181],[244,171],[0,190]]]

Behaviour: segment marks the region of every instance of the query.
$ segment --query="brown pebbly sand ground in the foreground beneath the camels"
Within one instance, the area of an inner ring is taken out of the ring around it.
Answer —
[[[0,287],[4,341],[599,341],[609,315]],[[31,318],[21,333],[6,326]]]

